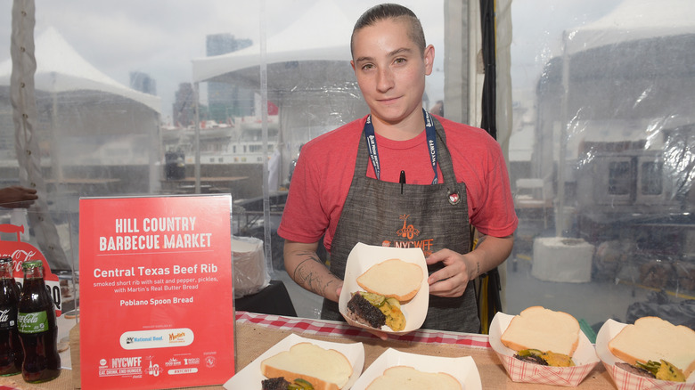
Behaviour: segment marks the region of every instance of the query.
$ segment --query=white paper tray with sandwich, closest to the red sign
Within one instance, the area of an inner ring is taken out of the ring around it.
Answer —
[[[363,369],[362,343],[335,343],[290,334],[237,372],[225,388],[285,390],[286,381],[298,386],[308,382],[314,390],[347,390]]]

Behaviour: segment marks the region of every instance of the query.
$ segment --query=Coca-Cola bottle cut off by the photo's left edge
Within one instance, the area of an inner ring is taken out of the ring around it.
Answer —
[[[24,353],[17,331],[20,288],[12,275],[12,257],[0,257],[0,375],[21,372]]]

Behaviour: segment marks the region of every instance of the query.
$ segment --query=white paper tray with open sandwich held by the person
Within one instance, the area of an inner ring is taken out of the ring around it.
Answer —
[[[347,256],[339,312],[359,328],[391,334],[419,329],[429,305],[427,275],[421,248],[357,243]]]

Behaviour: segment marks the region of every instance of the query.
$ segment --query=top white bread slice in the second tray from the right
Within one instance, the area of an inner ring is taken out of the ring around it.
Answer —
[[[579,345],[579,321],[568,313],[531,306],[511,319],[500,341],[514,351],[537,349],[572,356]]]

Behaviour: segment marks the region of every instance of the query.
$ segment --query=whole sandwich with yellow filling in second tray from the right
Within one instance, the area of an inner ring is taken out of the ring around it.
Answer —
[[[536,364],[570,367],[579,345],[579,322],[572,315],[531,306],[514,316],[500,341],[514,357]]]

